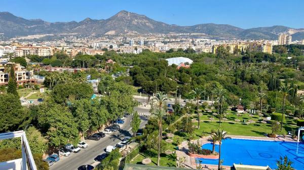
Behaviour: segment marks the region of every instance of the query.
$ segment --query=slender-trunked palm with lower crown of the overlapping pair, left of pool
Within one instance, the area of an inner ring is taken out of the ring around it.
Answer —
[[[166,115],[166,111],[164,108],[160,107],[155,109],[152,114],[157,118],[158,124],[159,124],[159,135],[158,135],[158,153],[157,153],[157,165],[160,165],[160,159],[161,159],[161,142],[162,142],[162,126],[163,126],[163,117]]]

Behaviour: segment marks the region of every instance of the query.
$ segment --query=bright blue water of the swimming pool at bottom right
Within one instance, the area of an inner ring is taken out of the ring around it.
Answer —
[[[218,152],[219,145],[215,145]],[[212,150],[212,143],[202,146],[203,149]],[[304,143],[260,141],[245,139],[226,139],[222,141],[221,159],[223,165],[232,166],[236,164],[259,165],[277,168],[276,160],[280,156],[287,156],[292,162],[292,166],[297,170],[304,169]],[[218,164],[218,159],[197,158],[197,162],[202,164]]]

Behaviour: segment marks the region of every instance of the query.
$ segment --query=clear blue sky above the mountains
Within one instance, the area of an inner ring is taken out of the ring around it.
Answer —
[[[121,10],[168,24],[230,24],[241,28],[284,25],[304,28],[302,0],[1,0],[0,11],[48,22],[107,19]]]

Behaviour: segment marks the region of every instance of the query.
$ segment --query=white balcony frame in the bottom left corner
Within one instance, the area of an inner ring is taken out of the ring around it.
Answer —
[[[16,132],[8,132],[8,133],[0,134],[0,140],[18,138],[18,137],[21,138],[20,142],[21,142],[22,158],[0,162],[0,169],[37,170],[24,131],[16,131]]]

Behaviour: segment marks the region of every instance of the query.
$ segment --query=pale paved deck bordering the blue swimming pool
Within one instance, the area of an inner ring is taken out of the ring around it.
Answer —
[[[297,142],[296,139],[292,139],[290,136],[286,135],[285,137],[282,135],[278,135],[276,138],[269,138],[269,137],[254,137],[254,136],[237,136],[237,135],[227,135],[233,139],[248,139],[248,140],[264,140],[264,141],[282,141],[282,142]],[[192,140],[191,142],[197,143],[199,142],[201,145],[206,143],[211,143],[211,136],[207,136],[205,138],[200,138],[197,140]],[[188,141],[183,141],[179,145],[179,150],[176,151],[177,161],[176,164],[178,165],[180,162],[178,161],[179,158],[185,157],[185,162],[181,162],[185,168],[196,169],[199,164],[196,163],[194,157],[190,157],[186,154],[188,150]],[[218,165],[214,164],[201,164],[203,166],[202,169],[208,170],[217,170]],[[223,166],[226,170],[230,170],[231,166]]]

